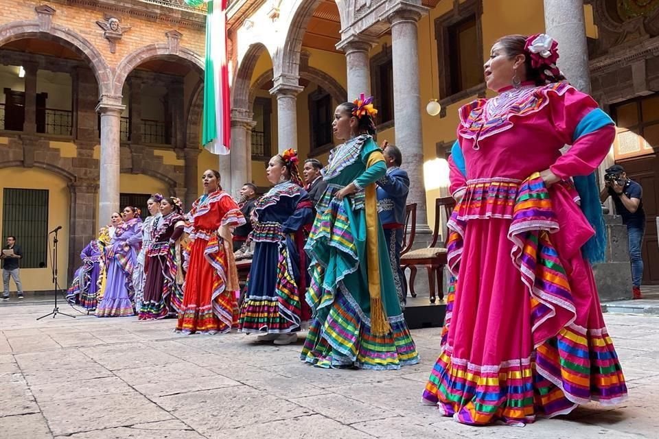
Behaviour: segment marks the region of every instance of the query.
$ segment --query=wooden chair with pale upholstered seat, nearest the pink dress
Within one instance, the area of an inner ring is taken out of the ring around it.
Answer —
[[[417,276],[417,266],[423,265],[428,271],[428,289],[430,290],[430,303],[435,303],[437,296],[439,300],[443,299],[443,268],[446,265],[446,248],[438,247],[437,241],[440,237],[441,228],[441,211],[444,211],[446,219],[450,218],[453,208],[455,207],[455,200],[453,197],[442,197],[435,200],[435,229],[432,231],[432,241],[426,248],[418,248],[417,250],[409,250],[411,242],[407,243],[408,247],[406,252],[401,254],[400,266],[403,272],[406,268],[410,269],[410,293],[412,297],[417,294],[414,291],[414,280]],[[416,206],[415,206],[416,208]],[[416,210],[416,209],[415,209]],[[415,212],[416,213],[416,212]],[[416,216],[416,215],[415,215]],[[447,234],[441,234],[446,239]],[[439,294],[435,294],[435,279],[437,279],[437,289]]]

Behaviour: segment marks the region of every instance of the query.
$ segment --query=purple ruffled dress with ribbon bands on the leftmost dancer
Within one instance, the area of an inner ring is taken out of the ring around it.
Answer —
[[[98,239],[89,241],[89,244],[80,253],[82,265],[73,277],[73,282],[67,293],[67,300],[77,303],[85,309],[96,309],[98,292],[104,267],[105,254],[103,244]]]

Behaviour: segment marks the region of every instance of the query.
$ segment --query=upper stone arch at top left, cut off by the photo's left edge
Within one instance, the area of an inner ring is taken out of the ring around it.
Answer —
[[[99,96],[109,93],[112,84],[111,68],[100,51],[73,29],[54,23],[44,29],[38,21],[12,21],[0,25],[0,47],[24,38],[53,40],[81,54],[98,82]]]

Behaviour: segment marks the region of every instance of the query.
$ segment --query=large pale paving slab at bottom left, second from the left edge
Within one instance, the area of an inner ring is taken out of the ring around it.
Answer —
[[[55,436],[173,418],[137,392],[44,401],[40,405]]]

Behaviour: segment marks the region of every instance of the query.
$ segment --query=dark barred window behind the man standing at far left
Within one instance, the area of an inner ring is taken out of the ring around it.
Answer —
[[[3,246],[16,237],[23,249],[21,268],[42,268],[48,260],[48,190],[5,188],[2,202]]]

